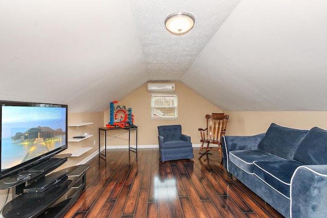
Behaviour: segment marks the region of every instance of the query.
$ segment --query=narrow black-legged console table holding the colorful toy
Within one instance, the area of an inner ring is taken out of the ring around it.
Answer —
[[[107,128],[107,127],[99,127],[99,155],[101,158],[106,159],[107,154],[106,154],[106,149],[107,149],[107,131],[112,131],[112,130],[126,130],[128,131],[128,149],[129,151],[132,152],[137,152],[137,126],[130,126],[130,127],[117,127],[117,128]],[[131,139],[131,130],[136,130],[136,144],[135,148],[131,147],[130,144],[130,139]],[[101,153],[101,131],[104,131],[104,154]],[[116,137],[114,137],[116,138]]]

